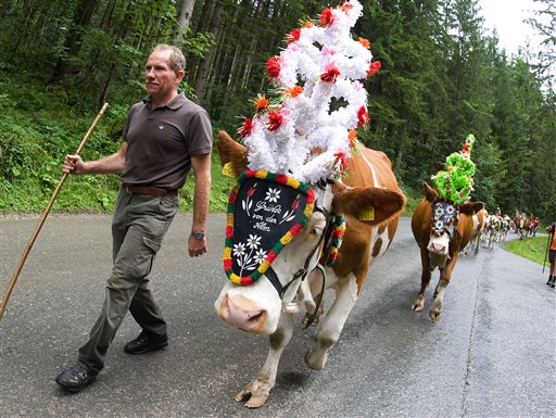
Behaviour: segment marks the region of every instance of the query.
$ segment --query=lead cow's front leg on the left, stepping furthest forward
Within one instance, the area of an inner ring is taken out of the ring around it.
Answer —
[[[236,401],[244,402],[248,408],[258,408],[268,398],[270,390],[276,383],[276,373],[280,356],[288,345],[293,333],[293,315],[282,314],[276,332],[268,339],[269,347],[265,364],[256,373],[255,378],[236,395]]]

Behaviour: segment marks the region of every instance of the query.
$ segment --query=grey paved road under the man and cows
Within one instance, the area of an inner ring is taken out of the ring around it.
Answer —
[[[0,218],[2,295],[37,218]],[[51,215],[0,324],[1,417],[555,417],[556,292],[541,267],[496,246],[460,259],[440,322],[409,305],[419,261],[408,219],[372,267],[323,371],[303,356],[300,327],[261,409],[233,395],[255,373],[266,341],[217,319],[225,216],[211,216],[210,254],[185,259],[191,218],[168,231],[152,273],[170,346],[128,356],[124,321],[97,382],[75,395],[53,379],[74,363],[103,300],[108,216]],[[434,280],[437,280],[434,274]],[[432,287],[431,287],[432,288]]]

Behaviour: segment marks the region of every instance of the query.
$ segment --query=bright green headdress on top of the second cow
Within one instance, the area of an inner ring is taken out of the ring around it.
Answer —
[[[475,137],[469,134],[460,152],[446,157],[445,170],[440,170],[431,180],[437,186],[440,197],[445,201],[462,205],[467,202],[473,189],[475,164],[471,161],[471,149]]]

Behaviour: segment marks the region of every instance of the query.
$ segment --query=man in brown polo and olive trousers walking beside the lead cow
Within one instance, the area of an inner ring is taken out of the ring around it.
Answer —
[[[206,252],[205,224],[211,192],[212,128],[208,115],[178,92],[186,61],[181,51],[156,46],[144,66],[149,96],[131,106],[121,149],[104,159],[84,162],[67,155],[63,173],[122,173],[122,189],[112,221],[113,266],[104,305],[77,363],[55,381],[70,392],[92,383],[119,325],[129,311],[141,333],[125,344],[129,354],[162,350],[166,322],[149,289],[148,275],[162,239],[178,211],[177,191],[194,172],[190,256]]]

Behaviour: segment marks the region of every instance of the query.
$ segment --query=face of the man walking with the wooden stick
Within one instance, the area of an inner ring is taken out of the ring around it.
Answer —
[[[154,51],[144,65],[144,85],[152,97],[164,98],[177,90],[184,72],[175,72],[169,65],[170,50]]]

